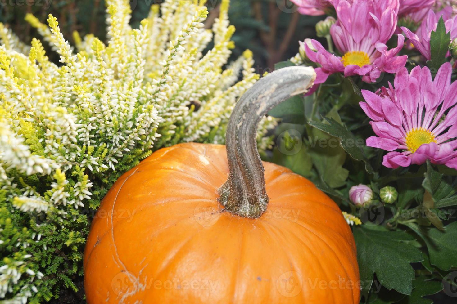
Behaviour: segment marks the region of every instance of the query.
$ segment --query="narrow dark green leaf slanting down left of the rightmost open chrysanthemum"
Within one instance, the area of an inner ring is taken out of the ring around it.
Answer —
[[[340,139],[340,146],[345,149],[346,152],[351,155],[352,158],[358,161],[365,162],[365,169],[369,174],[373,173],[373,168],[368,162],[368,159],[363,152],[361,147],[365,146],[365,141],[361,138],[357,139],[351,131],[332,118],[325,118],[328,123],[322,123],[319,121],[310,121],[308,124],[315,128],[328,133],[331,136],[335,136]]]

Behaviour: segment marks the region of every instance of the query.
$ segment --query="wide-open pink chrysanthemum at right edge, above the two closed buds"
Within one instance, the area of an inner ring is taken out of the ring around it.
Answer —
[[[402,68],[394,86],[379,94],[362,91],[366,102],[360,106],[377,135],[367,139],[367,146],[392,151],[384,156],[384,166],[430,160],[457,169],[457,81],[451,84],[451,75],[451,63],[441,66],[435,80],[429,68],[415,67],[410,74]]]

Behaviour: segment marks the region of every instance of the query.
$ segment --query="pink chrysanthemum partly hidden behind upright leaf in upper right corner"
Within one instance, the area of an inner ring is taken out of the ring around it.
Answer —
[[[438,21],[440,20],[441,16],[445,21],[446,32],[451,32],[451,40],[457,38],[457,16],[452,17],[448,14],[446,17],[444,11],[441,11],[440,13],[435,13],[433,10],[429,10],[426,19],[422,22],[419,30],[416,33],[413,33],[404,26],[402,27],[405,36],[408,37],[408,39],[411,41],[414,47],[427,60],[431,59],[430,35],[432,31],[436,30],[436,26],[438,26]]]

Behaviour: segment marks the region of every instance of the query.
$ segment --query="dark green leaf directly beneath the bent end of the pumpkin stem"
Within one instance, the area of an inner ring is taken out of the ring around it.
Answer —
[[[291,124],[303,124],[305,118],[305,105],[303,97],[293,96],[288,100],[276,105],[268,112],[268,115],[281,118],[283,122]]]

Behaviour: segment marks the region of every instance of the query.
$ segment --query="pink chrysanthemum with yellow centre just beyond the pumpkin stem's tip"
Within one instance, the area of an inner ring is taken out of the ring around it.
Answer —
[[[315,84],[323,83],[332,73],[345,77],[360,75],[367,83],[375,82],[381,73],[397,73],[406,64],[407,56],[397,56],[404,44],[398,36],[398,46],[388,50],[386,42],[397,26],[399,0],[334,0],[337,22],[330,34],[342,57],[328,52],[318,41],[311,40],[314,49],[305,43],[307,57],[319,63]]]

